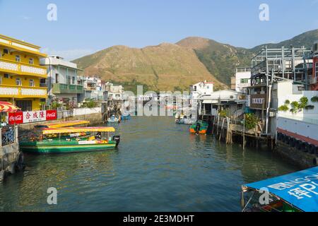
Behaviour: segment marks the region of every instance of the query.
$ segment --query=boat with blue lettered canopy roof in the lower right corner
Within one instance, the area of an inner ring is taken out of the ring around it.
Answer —
[[[317,212],[318,167],[242,185],[242,212]]]

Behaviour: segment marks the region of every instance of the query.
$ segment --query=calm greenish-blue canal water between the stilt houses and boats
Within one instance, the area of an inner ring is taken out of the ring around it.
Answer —
[[[1,211],[240,211],[241,184],[294,172],[266,151],[189,134],[173,117],[116,125],[118,150],[26,155],[0,184]],[[47,204],[47,188],[58,190]]]

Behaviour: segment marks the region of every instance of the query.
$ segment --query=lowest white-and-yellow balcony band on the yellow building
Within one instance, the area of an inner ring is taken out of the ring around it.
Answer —
[[[47,88],[0,85],[0,97],[47,98]]]

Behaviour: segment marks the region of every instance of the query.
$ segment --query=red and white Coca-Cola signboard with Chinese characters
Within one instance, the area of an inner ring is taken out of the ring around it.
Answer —
[[[11,125],[55,119],[57,119],[57,110],[8,113],[8,124]]]

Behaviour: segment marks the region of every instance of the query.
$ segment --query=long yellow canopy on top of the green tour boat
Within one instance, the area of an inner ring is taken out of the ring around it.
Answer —
[[[64,127],[64,128],[45,128],[42,130],[43,134],[57,134],[57,133],[87,133],[87,132],[114,132],[114,127]]]

